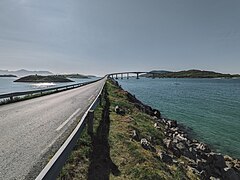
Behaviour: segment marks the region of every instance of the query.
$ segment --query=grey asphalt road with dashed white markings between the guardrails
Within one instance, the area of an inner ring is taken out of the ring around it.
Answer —
[[[0,179],[36,176],[93,102],[105,80],[0,106]]]

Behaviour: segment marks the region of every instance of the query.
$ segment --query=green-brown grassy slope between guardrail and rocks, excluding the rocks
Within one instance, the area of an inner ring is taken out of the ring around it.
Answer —
[[[133,130],[151,139],[157,151],[166,151],[162,129],[153,117],[129,102],[127,92],[108,81],[102,106],[95,111],[92,138],[84,131],[59,179],[198,179],[181,163],[164,163],[156,152],[145,150],[131,138]],[[115,106],[125,110],[116,114]],[[86,128],[85,128],[86,129]],[[184,160],[183,160],[184,161]]]

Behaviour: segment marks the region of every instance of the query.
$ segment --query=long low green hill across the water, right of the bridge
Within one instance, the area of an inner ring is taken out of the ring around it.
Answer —
[[[145,77],[153,77],[152,73],[147,73]],[[178,72],[154,73],[154,77],[158,78],[234,78],[240,77],[239,74],[222,74],[213,71],[187,70]]]

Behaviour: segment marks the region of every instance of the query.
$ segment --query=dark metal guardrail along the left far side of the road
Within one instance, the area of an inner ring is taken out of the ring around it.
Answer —
[[[61,91],[69,90],[69,89],[74,89],[74,88],[77,88],[80,86],[84,86],[87,84],[91,84],[91,83],[100,81],[103,78],[100,78],[100,79],[97,79],[94,81],[84,82],[84,83],[70,84],[67,86],[58,86],[58,87],[54,87],[54,88],[47,88],[47,89],[34,90],[34,91],[24,91],[24,92],[13,92],[13,93],[7,93],[7,94],[0,94],[0,103],[1,103],[1,99],[8,99],[10,102],[13,102],[14,98],[16,98],[16,97],[27,96],[27,95],[33,96],[36,94],[43,95],[43,93],[48,93],[48,92],[53,93],[53,92],[61,92]]]

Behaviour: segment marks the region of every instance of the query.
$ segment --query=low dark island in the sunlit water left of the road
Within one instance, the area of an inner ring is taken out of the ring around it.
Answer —
[[[50,75],[50,76],[40,76],[40,75],[30,75],[19,78],[14,82],[27,82],[27,83],[50,83],[50,82],[74,82],[70,79],[67,79],[64,76],[59,75]]]

